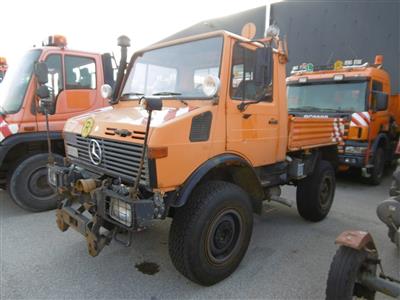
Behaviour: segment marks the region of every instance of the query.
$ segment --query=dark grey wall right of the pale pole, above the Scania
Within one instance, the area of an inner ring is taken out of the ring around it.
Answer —
[[[302,62],[362,58],[373,63],[376,54],[383,54],[392,92],[400,92],[400,1],[275,3],[273,20],[281,36],[287,35],[288,71]]]

